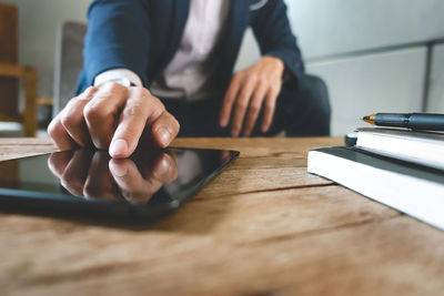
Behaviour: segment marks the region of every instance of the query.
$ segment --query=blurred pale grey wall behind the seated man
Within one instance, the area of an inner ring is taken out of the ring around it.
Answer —
[[[90,0],[2,0],[19,8],[19,59],[39,69],[39,95],[53,96],[56,35],[85,21]],[[286,0],[306,71],[332,101],[332,134],[376,111],[444,113],[444,1]],[[249,31],[236,69],[259,59]]]

